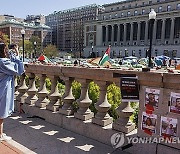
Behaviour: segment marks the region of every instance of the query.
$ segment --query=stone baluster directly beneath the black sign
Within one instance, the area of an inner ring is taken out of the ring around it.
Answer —
[[[133,109],[130,106],[130,102],[121,102],[117,113],[119,118],[113,123],[113,129],[129,133],[135,129],[135,124],[132,123],[129,118],[133,114]]]

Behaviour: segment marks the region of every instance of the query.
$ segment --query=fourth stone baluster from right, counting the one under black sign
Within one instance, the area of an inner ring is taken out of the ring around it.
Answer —
[[[64,114],[64,115],[71,115],[74,113],[72,103],[75,100],[73,94],[72,94],[72,78],[64,78],[63,79],[65,82],[65,93],[62,96],[63,100],[63,106],[62,108],[59,109],[59,113]]]

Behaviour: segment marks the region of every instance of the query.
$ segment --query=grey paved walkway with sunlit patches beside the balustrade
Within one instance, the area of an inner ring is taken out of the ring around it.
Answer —
[[[6,119],[4,129],[13,140],[0,144],[0,154],[127,154],[26,114]]]

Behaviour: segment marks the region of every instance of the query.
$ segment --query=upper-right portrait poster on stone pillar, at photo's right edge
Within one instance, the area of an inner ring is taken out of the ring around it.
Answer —
[[[171,92],[169,112],[180,114],[180,93]]]

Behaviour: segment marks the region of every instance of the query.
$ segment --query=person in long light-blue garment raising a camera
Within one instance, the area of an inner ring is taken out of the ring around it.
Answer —
[[[6,45],[0,43],[0,142],[11,139],[3,132],[3,122],[14,111],[14,76],[23,72],[18,46],[9,52]]]

